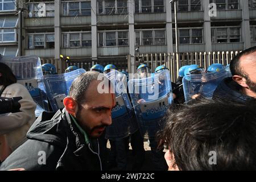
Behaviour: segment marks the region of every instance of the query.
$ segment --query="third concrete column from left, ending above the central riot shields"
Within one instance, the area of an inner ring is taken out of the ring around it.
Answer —
[[[131,55],[131,73],[135,73],[135,32],[134,32],[134,0],[128,0],[129,13],[129,53]]]

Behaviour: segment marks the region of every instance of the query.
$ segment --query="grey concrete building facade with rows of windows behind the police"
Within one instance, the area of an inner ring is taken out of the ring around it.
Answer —
[[[10,27],[1,27],[1,21],[17,16],[16,9],[6,14],[6,2],[0,0],[0,53],[17,45],[16,24],[11,27],[16,28],[15,39],[3,41]],[[61,54],[88,63],[87,68],[96,63],[125,63],[127,55],[133,66],[137,53],[176,51],[170,0],[23,2],[23,55],[38,55],[58,64]],[[179,52],[240,51],[256,46],[256,1],[179,0],[177,27]]]

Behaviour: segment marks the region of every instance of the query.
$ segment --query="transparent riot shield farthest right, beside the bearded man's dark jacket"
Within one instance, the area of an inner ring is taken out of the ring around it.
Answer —
[[[182,82],[185,101],[188,102],[200,97],[212,98],[214,90],[226,77],[228,77],[228,72],[225,68],[215,73],[184,76]]]

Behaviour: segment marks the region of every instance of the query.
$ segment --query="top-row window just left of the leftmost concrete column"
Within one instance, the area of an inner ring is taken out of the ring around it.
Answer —
[[[54,3],[28,3],[28,17],[54,17]]]

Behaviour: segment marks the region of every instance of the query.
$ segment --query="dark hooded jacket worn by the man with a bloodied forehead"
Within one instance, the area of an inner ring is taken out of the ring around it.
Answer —
[[[27,138],[27,142],[1,164],[0,170],[102,169],[97,139],[85,141],[65,109],[40,115],[28,131]]]

